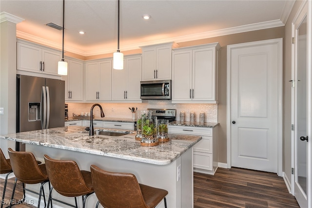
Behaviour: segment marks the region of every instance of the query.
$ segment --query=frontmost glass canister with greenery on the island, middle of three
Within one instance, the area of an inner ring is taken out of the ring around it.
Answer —
[[[141,117],[141,146],[153,147],[158,145],[157,116]]]

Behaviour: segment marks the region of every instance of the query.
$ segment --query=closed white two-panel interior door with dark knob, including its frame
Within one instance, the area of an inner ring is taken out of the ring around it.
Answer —
[[[281,38],[228,46],[233,167],[281,174],[281,72]]]

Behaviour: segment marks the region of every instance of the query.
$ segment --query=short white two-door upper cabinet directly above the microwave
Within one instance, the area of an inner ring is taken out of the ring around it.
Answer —
[[[171,79],[174,42],[142,46],[142,81]]]

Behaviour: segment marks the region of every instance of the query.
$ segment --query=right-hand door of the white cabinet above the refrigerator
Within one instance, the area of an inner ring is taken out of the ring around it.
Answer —
[[[58,75],[58,63],[61,60],[60,52],[42,49],[41,56],[42,73],[49,75]]]

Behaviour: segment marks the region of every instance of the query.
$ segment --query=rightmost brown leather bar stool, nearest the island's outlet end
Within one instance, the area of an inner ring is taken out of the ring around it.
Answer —
[[[154,208],[164,199],[167,208],[167,190],[139,184],[132,173],[109,172],[95,165],[91,165],[90,169],[98,203],[103,207]]]

